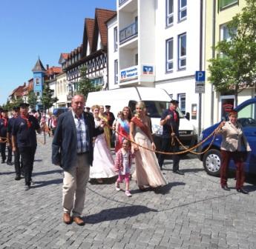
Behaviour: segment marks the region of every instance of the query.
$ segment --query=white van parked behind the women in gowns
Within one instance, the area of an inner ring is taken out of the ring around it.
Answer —
[[[163,127],[160,126],[160,118],[163,110],[168,109],[171,97],[161,88],[154,87],[123,87],[114,90],[93,92],[88,94],[86,106],[93,104],[111,105],[111,112],[114,116],[122,110],[123,107],[131,107],[134,112],[136,102],[145,102],[148,110],[148,116],[151,117],[152,131],[157,148],[160,146],[160,136],[163,133]],[[180,109],[180,140],[183,145],[191,147],[197,142],[197,132],[194,125],[185,118]]]

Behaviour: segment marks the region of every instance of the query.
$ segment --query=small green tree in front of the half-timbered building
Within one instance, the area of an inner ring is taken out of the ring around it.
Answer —
[[[76,93],[82,93],[85,96],[85,99],[87,99],[88,93],[96,92],[101,90],[101,86],[94,85],[90,79],[86,76],[86,67],[80,68],[80,76],[81,79],[79,80],[77,84],[77,91]]]

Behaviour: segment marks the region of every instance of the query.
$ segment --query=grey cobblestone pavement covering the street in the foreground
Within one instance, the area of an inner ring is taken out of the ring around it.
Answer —
[[[40,136],[42,141],[42,136]],[[50,163],[51,139],[39,143],[31,189],[14,181],[14,167],[0,165],[1,248],[256,248],[256,186],[249,195],[220,189],[195,156],[184,156],[168,185],[140,192],[131,181],[132,197],[116,192],[114,179],[88,184],[86,225],[62,222],[62,170]]]

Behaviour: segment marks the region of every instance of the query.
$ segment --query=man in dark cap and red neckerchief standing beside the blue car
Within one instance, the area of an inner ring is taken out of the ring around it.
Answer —
[[[177,112],[179,102],[177,100],[171,100],[171,104],[169,109],[163,112],[161,117],[160,125],[163,125],[163,142],[161,151],[163,152],[178,152],[179,150],[179,143],[174,136],[179,137],[179,126],[180,126],[180,116]],[[158,156],[158,163],[162,170],[163,162],[165,160],[165,155],[160,154]],[[184,175],[183,172],[179,169],[180,163],[180,155],[173,155],[173,172],[178,173],[180,175]]]

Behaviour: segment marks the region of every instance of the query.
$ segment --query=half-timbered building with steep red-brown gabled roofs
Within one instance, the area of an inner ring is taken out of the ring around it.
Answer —
[[[108,88],[107,84],[107,47],[108,19],[116,15],[116,11],[96,8],[94,19],[85,19],[82,45],[68,54],[68,59],[62,64],[62,70],[67,73],[68,89],[77,90],[81,67],[86,68],[86,76],[93,84]]]

